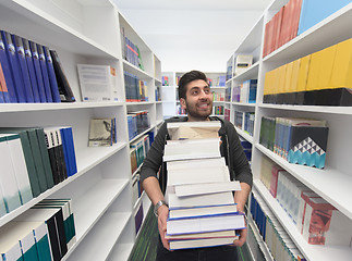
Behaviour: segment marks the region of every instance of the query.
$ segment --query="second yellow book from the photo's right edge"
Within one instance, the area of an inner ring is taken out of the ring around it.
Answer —
[[[325,48],[319,51],[320,71],[318,75],[318,83],[315,86],[315,90],[329,89],[329,83],[331,79],[333,61],[336,55],[337,45]]]

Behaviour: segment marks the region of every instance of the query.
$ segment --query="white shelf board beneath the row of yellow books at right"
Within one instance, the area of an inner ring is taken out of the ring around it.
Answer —
[[[352,115],[352,107],[286,105],[286,104],[269,104],[269,103],[263,103],[263,104],[259,104],[258,107],[264,109],[267,108],[267,109],[275,109],[275,110]]]

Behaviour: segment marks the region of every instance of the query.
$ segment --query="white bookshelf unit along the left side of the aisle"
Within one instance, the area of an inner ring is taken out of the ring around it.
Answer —
[[[126,114],[148,110],[150,128],[163,121],[161,62],[110,0],[35,1],[0,3],[2,29],[57,50],[73,90],[74,103],[2,103],[0,126],[72,126],[77,173],[0,217],[4,226],[46,198],[71,198],[76,243],[64,260],[126,260],[135,241],[134,206]],[[144,70],[123,59],[121,28],[139,47]],[[104,29],[102,29],[104,28]],[[117,102],[82,102],[76,64],[111,65],[118,74]],[[126,102],[123,72],[147,84],[148,101]],[[112,147],[87,147],[89,120],[116,117],[118,142]],[[139,135],[142,136],[142,134]],[[144,213],[150,206],[143,194]],[[104,246],[98,244],[104,241]]]

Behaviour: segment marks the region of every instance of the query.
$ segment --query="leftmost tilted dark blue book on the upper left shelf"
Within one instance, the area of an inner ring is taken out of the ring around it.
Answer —
[[[16,91],[14,89],[14,83],[12,79],[12,74],[10,70],[10,64],[7,55],[7,50],[2,40],[2,34],[0,34],[0,64],[2,66],[2,72],[5,80],[5,87],[8,89],[8,94],[3,94],[4,102],[17,102]],[[3,88],[3,83],[1,83]]]

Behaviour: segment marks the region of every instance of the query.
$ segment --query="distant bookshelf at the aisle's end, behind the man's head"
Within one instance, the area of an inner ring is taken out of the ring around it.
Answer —
[[[186,72],[162,72],[162,77],[168,77],[168,85],[162,85],[162,111],[163,117],[168,119],[171,116],[184,116],[185,114],[179,113],[180,101],[179,101],[179,86],[178,78],[180,78]],[[226,86],[218,86],[217,80],[219,76],[224,76],[224,73],[221,72],[204,72],[209,79],[213,79],[211,91],[215,92],[215,99],[213,101],[213,107],[226,107],[224,91]],[[221,100],[220,100],[221,97]],[[213,111],[213,116],[215,116],[215,112]],[[216,115],[223,117],[223,113],[221,115]]]

